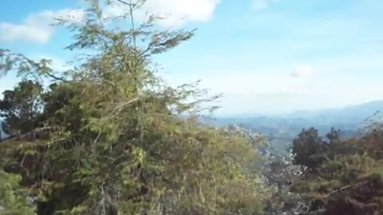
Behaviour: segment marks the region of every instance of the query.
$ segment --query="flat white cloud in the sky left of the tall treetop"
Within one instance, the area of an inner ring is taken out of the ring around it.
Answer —
[[[54,22],[54,18],[61,17],[70,21],[81,21],[84,16],[85,11],[70,9],[47,10],[31,14],[21,24],[0,23],[0,40],[46,43],[54,32],[54,28],[50,26]]]

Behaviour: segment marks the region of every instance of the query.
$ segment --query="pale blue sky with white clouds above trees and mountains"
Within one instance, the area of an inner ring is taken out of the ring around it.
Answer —
[[[0,47],[64,69],[70,34],[47,24],[67,12],[81,17],[80,5],[1,1]],[[224,93],[218,113],[236,114],[383,99],[382,9],[381,0],[148,0],[142,10],[172,14],[162,27],[198,28],[157,57],[160,74],[171,85],[201,79],[202,87]],[[0,79],[0,91],[15,84],[14,76]]]

